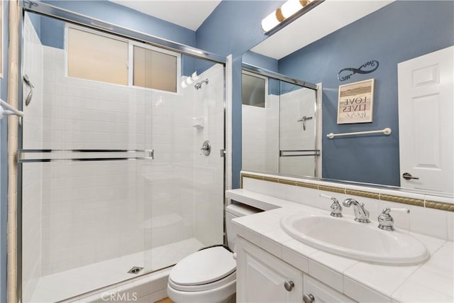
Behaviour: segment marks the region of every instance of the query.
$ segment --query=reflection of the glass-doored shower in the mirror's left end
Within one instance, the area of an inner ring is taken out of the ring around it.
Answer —
[[[243,170],[319,177],[316,85],[245,64],[242,74]]]

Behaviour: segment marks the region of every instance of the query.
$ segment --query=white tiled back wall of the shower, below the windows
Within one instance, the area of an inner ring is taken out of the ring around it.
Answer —
[[[45,164],[42,274],[193,237],[194,89],[169,94],[68,78],[64,51],[43,50],[43,148],[153,148],[155,159]]]

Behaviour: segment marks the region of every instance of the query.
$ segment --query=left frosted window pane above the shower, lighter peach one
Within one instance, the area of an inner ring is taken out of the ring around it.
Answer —
[[[128,43],[68,28],[68,76],[128,85]]]

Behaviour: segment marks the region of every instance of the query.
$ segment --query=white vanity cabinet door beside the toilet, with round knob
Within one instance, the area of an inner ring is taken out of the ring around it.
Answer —
[[[301,302],[303,273],[258,246],[238,237],[237,302]],[[293,287],[286,290],[293,283]],[[291,283],[292,282],[292,283]]]

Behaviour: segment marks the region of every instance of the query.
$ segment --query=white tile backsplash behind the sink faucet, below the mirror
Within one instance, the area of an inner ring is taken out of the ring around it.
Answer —
[[[272,177],[272,176],[270,176]],[[292,180],[299,180],[292,178]],[[300,180],[301,182],[308,182],[308,180]],[[316,183],[317,181],[313,181]],[[323,185],[331,185],[329,182],[322,182]],[[436,238],[442,238],[448,241],[452,241],[452,211],[443,211],[438,209],[429,209],[421,206],[413,206],[407,204],[400,204],[396,202],[382,201],[380,199],[371,199],[365,197],[356,197],[348,194],[339,194],[336,192],[325,192],[319,189],[310,189],[307,187],[295,187],[288,184],[280,184],[275,182],[268,182],[263,180],[255,180],[251,178],[243,178],[243,189],[251,192],[258,192],[260,194],[267,194],[272,197],[279,199],[287,199],[292,202],[306,204],[314,206],[319,209],[329,211],[330,202],[325,198],[319,197],[319,194],[328,194],[336,197],[339,201],[343,201],[348,197],[358,199],[359,202],[363,202],[365,207],[370,211],[370,219],[377,221],[377,216],[380,214],[382,209],[386,207],[395,208],[406,208],[410,209],[410,214],[394,214],[394,225],[397,228],[402,228],[408,231],[416,233],[423,233],[428,236]],[[375,189],[371,190],[368,187],[355,186],[356,190],[377,192],[380,194],[393,194],[389,189]],[[292,193],[292,194],[289,194]],[[394,193],[395,194],[395,193]],[[426,199],[423,194],[412,194],[406,192],[399,192],[402,197],[408,197],[411,199]],[[435,197],[430,197],[431,201],[437,201]],[[450,204],[454,204],[452,198],[448,200]],[[353,216],[353,209],[344,208],[345,214]]]

